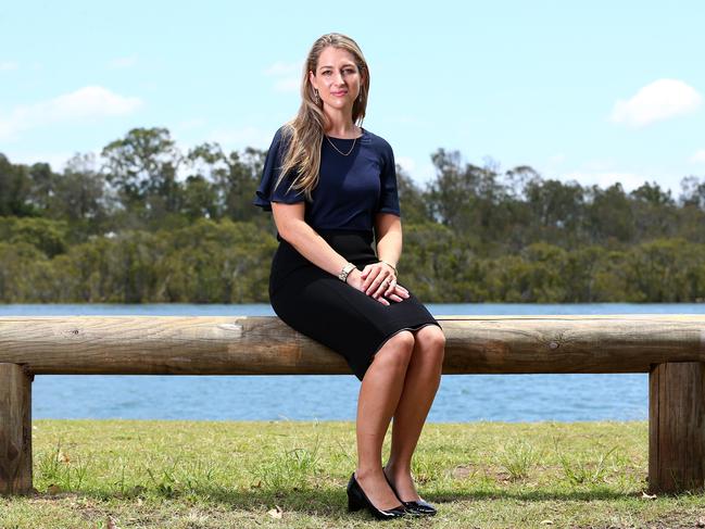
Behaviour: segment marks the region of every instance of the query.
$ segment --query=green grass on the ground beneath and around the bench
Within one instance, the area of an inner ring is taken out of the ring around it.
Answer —
[[[38,492],[0,497],[0,527],[379,527],[345,511],[354,441],[352,423],[36,420]],[[645,423],[429,424],[414,474],[439,515],[385,527],[705,527],[705,494],[647,497],[646,469]]]

